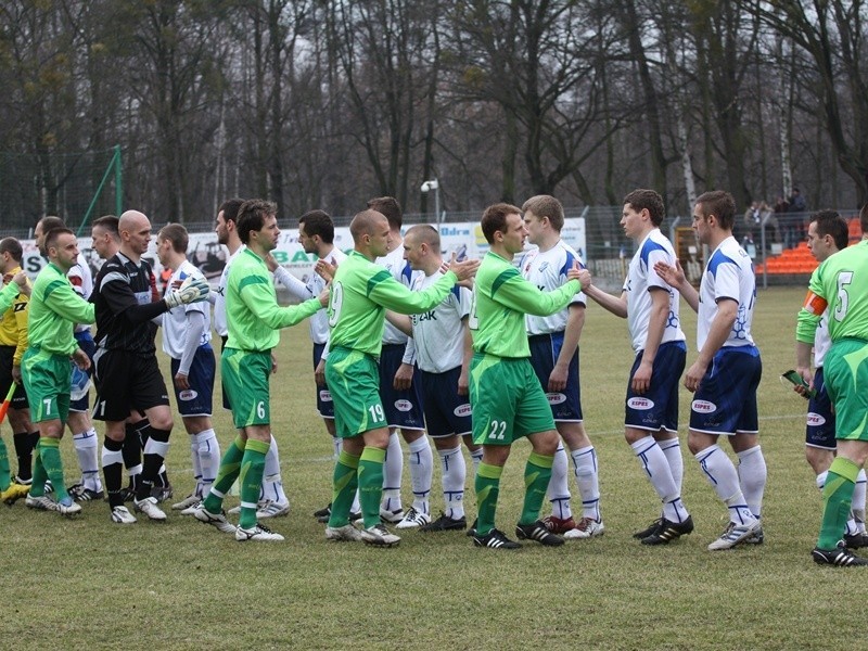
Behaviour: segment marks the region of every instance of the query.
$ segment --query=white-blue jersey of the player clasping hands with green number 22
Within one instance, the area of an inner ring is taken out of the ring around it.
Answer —
[[[678,292],[654,271],[654,265],[659,261],[674,267],[675,250],[672,247],[672,242],[660,232],[659,228],[655,228],[639,244],[624,282],[624,291],[627,293],[627,327],[636,353],[644,350],[648,341],[652,306],[651,290],[665,291],[669,295],[669,315],[660,343],[682,342],[686,339],[678,312]]]

